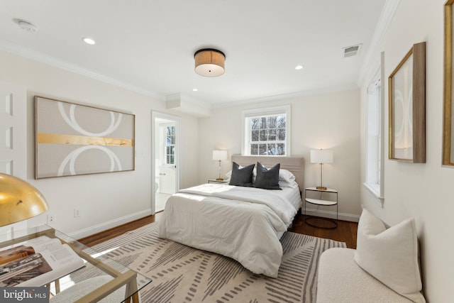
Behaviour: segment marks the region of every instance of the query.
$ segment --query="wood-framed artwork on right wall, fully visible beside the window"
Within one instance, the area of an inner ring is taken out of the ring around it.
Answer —
[[[416,43],[389,75],[389,159],[426,162],[426,43]]]

